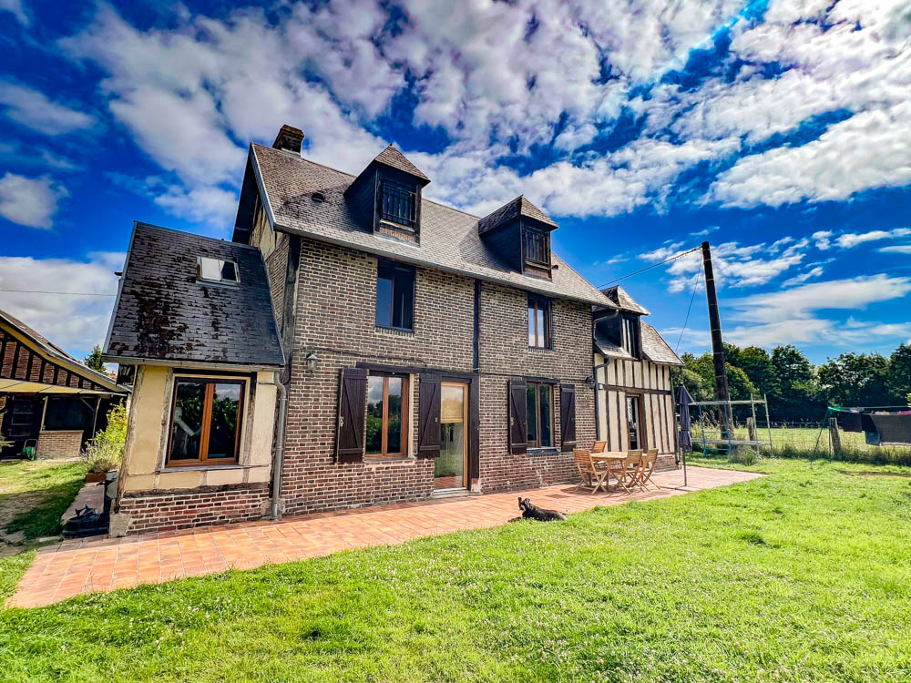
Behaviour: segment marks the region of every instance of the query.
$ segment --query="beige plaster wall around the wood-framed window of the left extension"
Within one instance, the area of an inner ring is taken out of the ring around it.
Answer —
[[[268,482],[275,424],[274,372],[247,378],[238,464],[166,466],[174,377],[217,377],[204,370],[141,365],[129,406],[119,494]],[[255,385],[255,386],[254,386]]]

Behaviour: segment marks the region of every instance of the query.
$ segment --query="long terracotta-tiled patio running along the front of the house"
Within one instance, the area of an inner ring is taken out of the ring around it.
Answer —
[[[665,488],[635,494],[575,491],[572,484],[465,495],[405,505],[342,513],[288,517],[278,522],[205,527],[182,532],[87,541],[65,541],[43,549],[26,571],[7,607],[41,607],[93,591],[156,584],[202,576],[231,567],[251,569],[266,563],[332,555],[371,545],[394,545],[422,536],[448,534],[505,524],[518,515],[517,496],[569,513],[630,500],[651,500],[749,481],[761,474],[689,468],[655,475]],[[668,488],[674,487],[674,488]],[[680,488],[678,488],[680,487]]]

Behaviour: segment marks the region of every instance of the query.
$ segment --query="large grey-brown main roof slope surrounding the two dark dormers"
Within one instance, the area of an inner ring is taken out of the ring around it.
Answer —
[[[251,161],[275,229],[558,299],[613,307],[556,254],[552,256],[556,266],[552,280],[509,268],[481,240],[476,216],[424,199],[420,245],[374,235],[358,225],[344,199],[344,191],[354,176],[255,143],[251,144]],[[312,200],[317,190],[324,201]]]

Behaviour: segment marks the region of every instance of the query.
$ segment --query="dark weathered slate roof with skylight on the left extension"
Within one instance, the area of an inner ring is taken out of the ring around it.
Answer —
[[[197,257],[233,260],[239,284],[197,280]],[[135,223],[105,358],[281,366],[260,250]]]

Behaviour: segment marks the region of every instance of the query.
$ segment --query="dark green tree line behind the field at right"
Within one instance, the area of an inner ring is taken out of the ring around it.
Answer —
[[[793,344],[767,352],[757,346],[724,344],[732,400],[769,400],[773,422],[818,422],[827,406],[911,405],[911,345],[900,345],[888,357],[881,353],[842,353],[814,365]],[[684,353],[676,382],[697,401],[715,397],[711,352]]]

